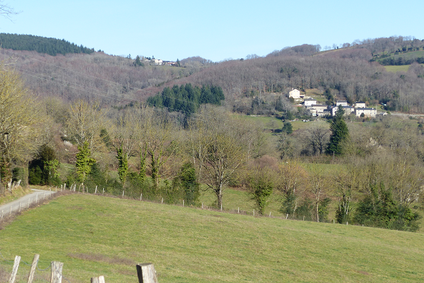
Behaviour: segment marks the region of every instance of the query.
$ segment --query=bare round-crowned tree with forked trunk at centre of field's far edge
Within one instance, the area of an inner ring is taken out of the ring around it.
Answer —
[[[204,108],[191,125],[192,158],[201,169],[201,180],[215,192],[218,207],[225,185],[247,161],[249,138],[245,125],[216,108]]]

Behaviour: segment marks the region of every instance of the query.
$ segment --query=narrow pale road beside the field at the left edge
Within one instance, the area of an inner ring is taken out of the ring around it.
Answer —
[[[14,200],[13,202],[1,205],[0,221],[3,219],[3,216],[9,216],[11,213],[25,210],[30,207],[31,204],[45,200],[46,198],[50,197],[50,195],[54,194],[54,191],[50,190],[32,190],[33,193],[24,195],[23,197],[20,197],[19,200]]]

